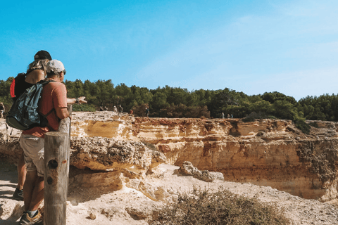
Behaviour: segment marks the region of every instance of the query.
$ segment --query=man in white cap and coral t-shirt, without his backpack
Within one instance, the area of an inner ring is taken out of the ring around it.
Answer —
[[[44,85],[39,101],[39,113],[47,115],[47,127],[33,127],[23,131],[20,136],[20,146],[25,153],[27,175],[23,187],[25,212],[19,224],[36,224],[40,222],[41,214],[37,210],[44,199],[44,134],[58,130],[58,121],[69,117],[67,103],[80,101],[67,99],[67,90],[63,79],[65,67],[59,60],[51,60],[46,65],[46,80],[52,80]],[[83,97],[84,98],[84,97]]]

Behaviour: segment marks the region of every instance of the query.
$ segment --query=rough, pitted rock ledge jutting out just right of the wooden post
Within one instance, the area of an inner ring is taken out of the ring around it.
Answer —
[[[102,137],[72,137],[70,165],[93,170],[148,170],[165,162],[163,153],[139,141],[123,141]]]

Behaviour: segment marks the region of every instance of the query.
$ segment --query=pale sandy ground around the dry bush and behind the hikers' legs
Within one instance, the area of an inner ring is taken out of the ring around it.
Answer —
[[[256,196],[263,202],[275,203],[283,208],[292,224],[338,224],[337,203],[320,203],[317,200],[306,200],[276,189],[216,180],[206,183],[194,179],[192,176],[180,176],[175,172],[178,167],[160,165],[156,176],[149,176],[147,184],[161,186],[168,193],[175,190],[189,190],[193,186],[217,189],[224,186],[233,193],[249,197]],[[17,172],[14,165],[0,162],[0,224],[18,224],[23,212],[23,202],[12,200],[11,196],[16,187]],[[87,188],[85,190],[70,191],[67,199],[68,225],[120,225],[147,224],[144,217],[152,210],[161,206],[147,198],[143,193],[132,188],[124,187],[113,193],[100,193],[99,190]],[[91,217],[92,215],[92,218]],[[95,219],[94,219],[95,217]]]

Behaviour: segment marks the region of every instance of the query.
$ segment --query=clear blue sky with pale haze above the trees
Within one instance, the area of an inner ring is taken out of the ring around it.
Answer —
[[[338,1],[5,1],[0,79],[39,50],[65,79],[337,94]]]

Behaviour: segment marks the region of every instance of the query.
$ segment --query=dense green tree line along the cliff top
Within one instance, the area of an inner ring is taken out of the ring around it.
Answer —
[[[11,107],[10,86],[13,77],[0,80],[0,101]],[[147,89],[139,86],[114,85],[111,79],[82,82],[65,81],[68,98],[86,96],[87,104],[75,105],[74,110],[94,111],[100,106],[113,110],[123,107],[123,112],[134,111],[144,115],[149,108],[151,117],[207,117],[220,118],[222,113],[235,118],[271,117],[285,120],[338,121],[338,95],[306,96],[296,101],[277,91],[248,96],[231,89],[188,91],[180,87]]]

